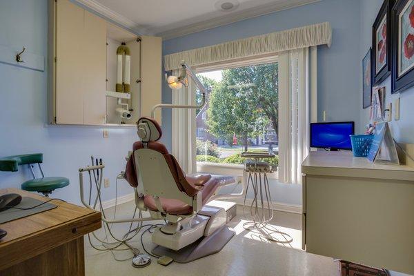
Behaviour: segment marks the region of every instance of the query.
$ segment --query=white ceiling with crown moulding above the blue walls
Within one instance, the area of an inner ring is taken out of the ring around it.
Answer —
[[[75,1],[139,34],[170,39],[320,0]],[[227,2],[232,3],[233,8]],[[221,9],[221,4],[230,9]]]

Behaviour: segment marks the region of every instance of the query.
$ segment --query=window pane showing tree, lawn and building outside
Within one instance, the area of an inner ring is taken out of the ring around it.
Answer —
[[[278,153],[277,66],[273,59],[197,73],[201,83],[211,88],[206,106],[196,111],[197,115],[202,112],[196,121],[197,164],[241,166],[244,151]],[[277,165],[278,160],[266,161]]]

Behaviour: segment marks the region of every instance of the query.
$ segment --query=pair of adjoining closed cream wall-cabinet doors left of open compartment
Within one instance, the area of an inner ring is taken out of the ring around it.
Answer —
[[[56,124],[105,124],[106,22],[56,3]]]

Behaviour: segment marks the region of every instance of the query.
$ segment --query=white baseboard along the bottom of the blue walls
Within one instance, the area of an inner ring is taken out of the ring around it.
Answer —
[[[128,195],[123,195],[121,197],[118,197],[118,201],[117,204],[124,204],[127,203],[129,201],[134,200],[134,193],[130,193]],[[223,199],[221,199],[223,200]],[[235,202],[237,205],[243,205],[243,201],[244,199],[240,198],[240,199],[228,199],[227,201],[233,201]],[[246,199],[246,206],[250,206],[253,202],[253,199]],[[287,213],[295,213],[295,214],[302,214],[302,206],[300,205],[294,205],[294,204],[285,204],[285,203],[279,203],[279,202],[272,202],[270,203],[270,205],[272,206],[273,210],[276,211],[282,211],[282,212],[287,212]],[[103,201],[102,202],[102,207],[103,209],[108,209],[111,207],[115,206],[115,199],[110,199],[107,201]]]

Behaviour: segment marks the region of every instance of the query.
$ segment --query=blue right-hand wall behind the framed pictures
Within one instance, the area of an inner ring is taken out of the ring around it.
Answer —
[[[380,11],[381,5],[382,1],[378,0],[361,1],[361,48],[359,60],[364,58],[366,52],[372,45],[372,26],[375,21],[375,17],[377,17],[377,13]],[[359,70],[359,83],[362,83],[362,66]],[[414,143],[414,87],[409,88],[400,94],[391,95],[391,76],[381,83],[380,86],[386,87],[386,103],[394,104],[394,100],[400,97],[400,120],[394,121],[393,113],[393,121],[390,123],[394,138],[398,142]],[[362,91],[362,85],[359,86],[359,91]],[[359,97],[359,106],[362,106],[362,96]],[[360,115],[360,126],[363,128],[369,121],[369,108],[361,108]]]

